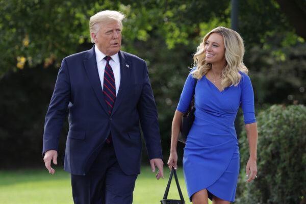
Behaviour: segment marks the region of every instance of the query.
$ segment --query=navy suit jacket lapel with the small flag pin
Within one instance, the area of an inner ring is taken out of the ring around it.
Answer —
[[[129,59],[127,59],[126,55],[124,55],[123,52],[119,51],[118,55],[119,55],[119,61],[120,61],[120,75],[121,75],[120,76],[120,86],[119,86],[118,94],[117,94],[111,115],[113,115],[116,112],[116,110],[118,109],[122,101],[122,98],[125,93],[125,89],[127,85],[129,84],[129,78],[130,78],[130,73],[131,73],[131,68],[132,68],[131,62],[129,61]]]

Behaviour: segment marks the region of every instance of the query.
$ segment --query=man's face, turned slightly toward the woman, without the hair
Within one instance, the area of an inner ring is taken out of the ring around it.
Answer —
[[[112,56],[119,52],[121,47],[121,27],[118,21],[101,24],[101,28],[95,35],[91,33],[96,46],[106,56]]]

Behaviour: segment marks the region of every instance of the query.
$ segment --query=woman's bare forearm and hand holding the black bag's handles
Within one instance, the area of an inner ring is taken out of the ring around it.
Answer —
[[[172,120],[170,156],[167,163],[170,170],[172,169],[172,166],[174,167],[174,169],[177,169],[176,145],[177,145],[177,139],[179,138],[180,134],[182,117],[183,113],[176,110]]]

